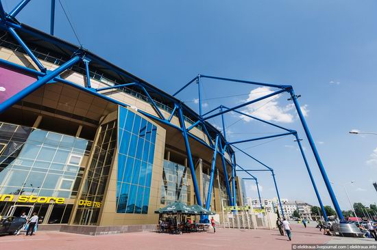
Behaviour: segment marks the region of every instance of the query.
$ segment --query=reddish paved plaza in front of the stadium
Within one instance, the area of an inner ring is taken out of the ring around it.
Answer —
[[[212,232],[182,235],[140,232],[104,236],[84,236],[61,232],[36,232],[35,236],[1,236],[1,249],[291,249],[293,243],[348,243],[347,239],[324,236],[315,227],[304,228],[292,224],[293,240],[280,236],[278,230],[238,230],[218,228]],[[374,243],[370,239],[357,239],[353,243]]]

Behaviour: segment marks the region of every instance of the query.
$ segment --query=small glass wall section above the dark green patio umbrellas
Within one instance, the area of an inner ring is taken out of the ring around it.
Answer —
[[[160,186],[160,204],[167,205],[179,201],[193,205],[191,202],[191,171],[189,168],[164,161]]]

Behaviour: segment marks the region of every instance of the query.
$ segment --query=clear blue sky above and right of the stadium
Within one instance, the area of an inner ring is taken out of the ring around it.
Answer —
[[[61,0],[85,48],[173,94],[198,73],[291,84],[302,95],[308,126],[342,209],[352,202],[377,202],[376,1],[73,1]],[[32,0],[19,20],[49,31],[49,1]],[[56,36],[77,44],[59,1]],[[14,1],[3,0],[5,10]],[[271,89],[204,80],[204,111],[230,107]],[[179,98],[197,109],[193,85]],[[219,98],[232,96],[228,98]],[[213,99],[215,98],[215,99]],[[241,109],[295,129],[325,204],[330,204],[306,137],[287,94]],[[263,105],[262,107],[260,107]],[[255,111],[256,109],[256,111]],[[230,141],[278,130],[226,115]],[[239,122],[237,122],[239,121]],[[221,126],[219,119],[211,120]],[[236,123],[234,123],[236,122]],[[281,197],[317,205],[293,137],[239,144],[276,171]],[[374,150],[376,150],[374,152]],[[238,163],[256,168],[242,154]],[[256,173],[263,197],[273,197],[267,173]],[[248,194],[256,196],[247,184]]]

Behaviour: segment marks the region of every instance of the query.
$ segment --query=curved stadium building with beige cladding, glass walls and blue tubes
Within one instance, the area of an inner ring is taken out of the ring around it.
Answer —
[[[15,18],[0,28],[1,215],[142,230],[174,201],[243,205],[232,147],[180,100]]]

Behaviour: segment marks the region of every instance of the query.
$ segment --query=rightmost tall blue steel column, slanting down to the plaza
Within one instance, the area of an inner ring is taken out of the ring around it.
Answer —
[[[300,104],[297,101],[297,96],[295,95],[295,92],[293,92],[293,89],[290,89],[290,93],[291,93],[291,97],[292,97],[293,103],[295,104],[295,108],[296,108],[297,114],[300,117],[300,120],[301,120],[301,123],[302,123],[302,127],[304,128],[306,137],[308,138],[308,142],[311,145],[311,149],[312,149],[313,154],[315,156],[315,161],[317,161],[317,165],[319,167],[319,171],[321,171],[322,178],[324,178],[324,182],[326,184],[326,188],[328,190],[328,194],[330,195],[332,204],[334,205],[335,211],[338,214],[339,220],[343,221],[344,220],[343,213],[341,212],[341,208],[340,208],[340,206],[338,204],[337,197],[335,197],[335,193],[332,190],[332,186],[330,184],[330,180],[328,180],[328,176],[327,176],[325,167],[324,167],[324,165],[323,165],[323,163],[321,161],[321,157],[318,154],[317,147],[315,146],[313,137],[311,136],[311,132],[309,131],[308,125],[306,124],[305,117],[302,114],[302,111],[301,111],[301,108],[300,108]]]

